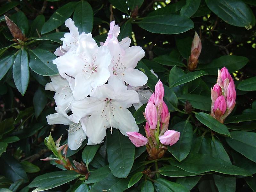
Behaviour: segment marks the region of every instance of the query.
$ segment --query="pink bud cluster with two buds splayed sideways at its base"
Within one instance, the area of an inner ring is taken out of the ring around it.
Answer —
[[[165,151],[165,145],[173,145],[180,138],[180,132],[168,130],[170,113],[164,103],[164,86],[159,80],[155,91],[148,100],[143,113],[146,119],[144,126],[146,137],[138,132],[127,132],[129,139],[136,147],[146,145],[151,159],[161,158]]]

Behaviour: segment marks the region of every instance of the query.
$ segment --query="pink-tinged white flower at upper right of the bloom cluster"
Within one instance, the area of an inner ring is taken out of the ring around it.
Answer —
[[[115,81],[120,80],[127,84],[137,87],[147,83],[148,77],[138,69],[134,69],[138,61],[145,55],[140,46],[130,46],[131,40],[126,37],[118,42],[117,35],[120,32],[115,22],[110,23],[110,30],[104,46],[108,46],[112,60],[109,70],[113,71],[110,78]]]

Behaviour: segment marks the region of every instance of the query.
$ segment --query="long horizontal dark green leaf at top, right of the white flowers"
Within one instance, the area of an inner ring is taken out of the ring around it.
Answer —
[[[151,33],[178,34],[194,28],[194,23],[180,15],[156,15],[145,17],[139,26]]]

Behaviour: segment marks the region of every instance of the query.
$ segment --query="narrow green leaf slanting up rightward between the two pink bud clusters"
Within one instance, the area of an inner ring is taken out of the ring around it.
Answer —
[[[181,84],[185,84],[188,83],[190,81],[193,81],[194,79],[207,75],[207,73],[205,73],[204,71],[195,71],[195,72],[190,72],[187,73],[179,78],[176,79],[176,81],[174,81],[172,84],[170,84],[170,87],[175,87]]]

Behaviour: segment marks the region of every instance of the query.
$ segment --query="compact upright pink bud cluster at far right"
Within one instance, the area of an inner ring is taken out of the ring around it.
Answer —
[[[211,90],[211,116],[223,123],[236,105],[236,88],[226,67],[218,71],[217,83]]]

